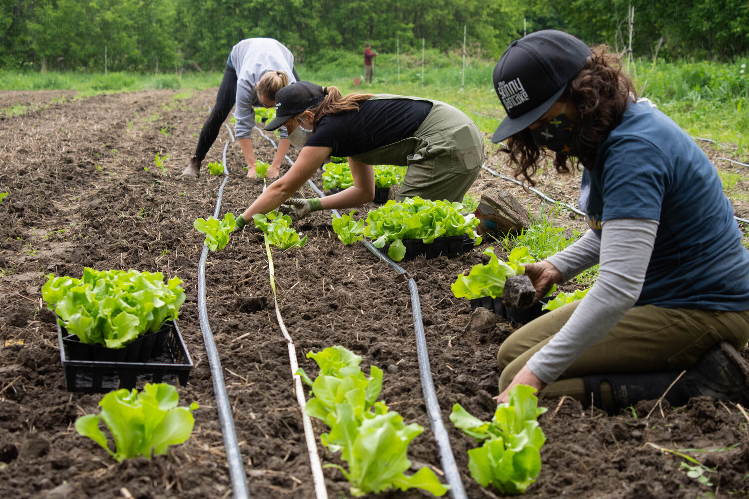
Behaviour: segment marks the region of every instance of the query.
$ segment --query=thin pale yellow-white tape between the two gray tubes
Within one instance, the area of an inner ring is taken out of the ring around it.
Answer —
[[[268,255],[268,273],[270,274],[270,289],[273,290],[273,304],[276,306],[276,319],[279,323],[279,328],[283,337],[286,339],[286,346],[288,347],[288,361],[291,364],[291,376],[294,378],[294,392],[297,395],[297,402],[302,410],[302,426],[304,427],[304,438],[307,444],[307,452],[309,453],[309,465],[312,467],[312,482],[315,483],[315,495],[318,499],[327,499],[327,489],[325,488],[325,476],[323,474],[322,463],[320,462],[320,456],[318,455],[318,444],[315,441],[315,430],[312,428],[312,420],[304,411],[307,405],[307,401],[304,398],[304,388],[302,386],[302,377],[297,374],[299,370],[299,364],[297,363],[297,348],[294,346],[294,340],[288,334],[286,325],[283,322],[281,316],[281,310],[279,309],[278,296],[276,295],[276,273],[273,270],[273,257],[270,254],[270,244],[265,239],[265,252]]]

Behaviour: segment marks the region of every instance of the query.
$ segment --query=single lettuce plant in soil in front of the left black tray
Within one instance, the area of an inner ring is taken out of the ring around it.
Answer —
[[[166,383],[148,383],[140,393],[124,388],[113,391],[99,402],[99,414],[76,419],[76,431],[104,447],[118,462],[137,456],[151,459],[151,453],[163,456],[169,446],[187,441],[195,425],[192,411],[198,404],[178,407],[179,399],[175,387]],[[115,450],[109,448],[100,421],[112,433]]]

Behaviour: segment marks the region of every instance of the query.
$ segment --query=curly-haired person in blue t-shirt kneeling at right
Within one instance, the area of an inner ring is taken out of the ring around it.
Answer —
[[[557,171],[584,167],[590,230],[526,266],[536,300],[601,264],[584,299],[503,343],[497,399],[524,384],[611,412],[661,397],[681,374],[672,405],[697,395],[748,402],[736,350],[749,340],[749,253],[703,151],[637,100],[618,58],[560,31],[513,42],[494,85],[507,117],[492,141],[509,138],[518,174],[530,180],[548,151]]]

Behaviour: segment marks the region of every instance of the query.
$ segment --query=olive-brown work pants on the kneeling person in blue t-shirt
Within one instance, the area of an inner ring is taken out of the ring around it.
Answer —
[[[503,367],[500,393],[533,354],[560,331],[578,304],[580,301],[575,301],[545,313],[502,343],[497,352],[497,361]],[[560,379],[543,388],[540,395],[547,398],[566,395],[584,403],[586,394],[580,376],[684,370],[720,341],[731,343],[736,350],[747,344],[749,310],[634,307],[606,336],[583,352]],[[604,403],[613,405],[607,383],[601,383],[601,397]]]

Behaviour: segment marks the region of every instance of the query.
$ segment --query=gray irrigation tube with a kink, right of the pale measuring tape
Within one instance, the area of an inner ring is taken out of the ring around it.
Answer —
[[[260,129],[258,129],[260,132]],[[260,132],[264,138],[276,147],[276,143],[268,138],[263,132]],[[285,156],[285,159],[294,165],[291,158]],[[315,186],[312,180],[308,180],[307,183],[312,190],[314,190],[322,198],[325,197],[324,192]],[[340,216],[338,210],[331,209],[334,215]],[[434,433],[434,439],[437,441],[437,448],[440,453],[440,462],[442,462],[442,470],[445,473],[445,479],[450,486],[450,495],[453,499],[467,499],[463,481],[461,480],[461,474],[458,471],[458,465],[455,462],[455,456],[452,455],[452,447],[450,447],[450,439],[447,435],[447,430],[442,422],[442,411],[440,409],[440,402],[437,399],[437,391],[434,390],[434,381],[431,377],[431,367],[429,364],[429,353],[426,346],[426,337],[424,334],[424,322],[422,321],[421,314],[421,301],[419,300],[419,288],[416,287],[416,281],[397,263],[390,260],[384,254],[375,248],[369,241],[363,241],[364,246],[375,254],[380,260],[388,263],[395,271],[399,274],[403,274],[408,278],[408,290],[411,295],[411,310],[413,312],[413,328],[416,331],[416,357],[419,359],[419,374],[422,383],[422,393],[424,394],[424,402],[426,405],[427,415],[429,417],[429,426],[431,426],[431,432]]]

